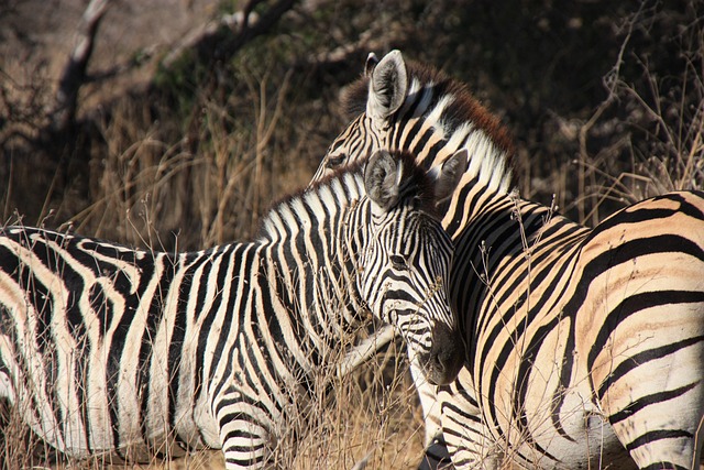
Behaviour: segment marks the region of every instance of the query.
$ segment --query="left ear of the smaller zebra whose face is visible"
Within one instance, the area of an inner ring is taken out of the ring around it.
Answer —
[[[403,164],[385,150],[370,156],[364,168],[364,188],[372,203],[387,211],[398,203]]]

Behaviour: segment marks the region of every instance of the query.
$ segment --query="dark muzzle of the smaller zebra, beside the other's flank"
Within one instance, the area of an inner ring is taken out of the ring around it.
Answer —
[[[460,331],[444,324],[432,329],[430,352],[419,356],[426,380],[432,385],[447,385],[457,379],[464,365],[465,349]]]

